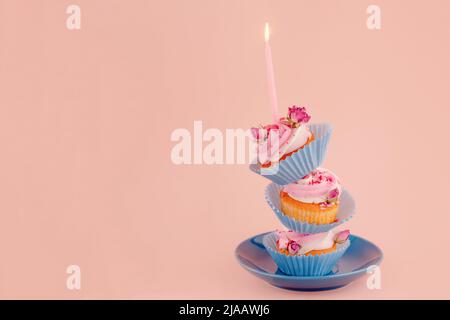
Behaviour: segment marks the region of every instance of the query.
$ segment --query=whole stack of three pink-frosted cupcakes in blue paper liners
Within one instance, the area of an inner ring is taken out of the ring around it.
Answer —
[[[328,124],[309,124],[304,107],[289,108],[277,123],[252,128],[257,163],[250,169],[272,181],[266,200],[287,228],[263,240],[279,269],[292,276],[332,272],[350,246],[339,225],[355,212],[355,202],[339,178],[320,167],[331,136]]]

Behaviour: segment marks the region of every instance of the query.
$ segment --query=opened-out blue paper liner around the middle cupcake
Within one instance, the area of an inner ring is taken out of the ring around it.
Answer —
[[[308,222],[298,221],[284,215],[284,213],[280,210],[280,191],[282,187],[283,186],[279,186],[275,183],[269,184],[266,187],[265,197],[267,203],[270,208],[272,208],[273,212],[275,212],[280,222],[289,230],[293,230],[298,233],[327,232],[333,228],[336,228],[338,225],[347,222],[355,215],[355,200],[353,200],[353,197],[346,189],[343,189],[339,200],[339,209],[336,215],[336,222],[329,224],[311,224]]]

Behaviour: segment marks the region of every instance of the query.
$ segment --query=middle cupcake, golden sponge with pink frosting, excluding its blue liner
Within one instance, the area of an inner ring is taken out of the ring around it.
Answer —
[[[311,224],[336,221],[342,187],[330,170],[317,168],[280,191],[281,211],[295,220]]]

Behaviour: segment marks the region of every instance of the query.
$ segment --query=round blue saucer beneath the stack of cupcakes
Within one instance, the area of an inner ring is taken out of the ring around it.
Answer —
[[[350,235],[351,245],[339,260],[333,271],[319,277],[294,277],[278,270],[262,244],[267,233],[241,242],[235,254],[240,265],[251,274],[267,283],[288,290],[320,291],[344,287],[359,277],[367,274],[372,265],[379,265],[383,252],[368,240]]]

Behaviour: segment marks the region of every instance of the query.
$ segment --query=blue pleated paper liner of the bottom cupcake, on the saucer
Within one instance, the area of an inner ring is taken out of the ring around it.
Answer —
[[[264,236],[263,244],[278,268],[290,276],[324,276],[333,271],[333,267],[350,246],[350,240],[336,245],[336,250],[314,256],[288,256],[277,250],[277,235],[271,232]]]

